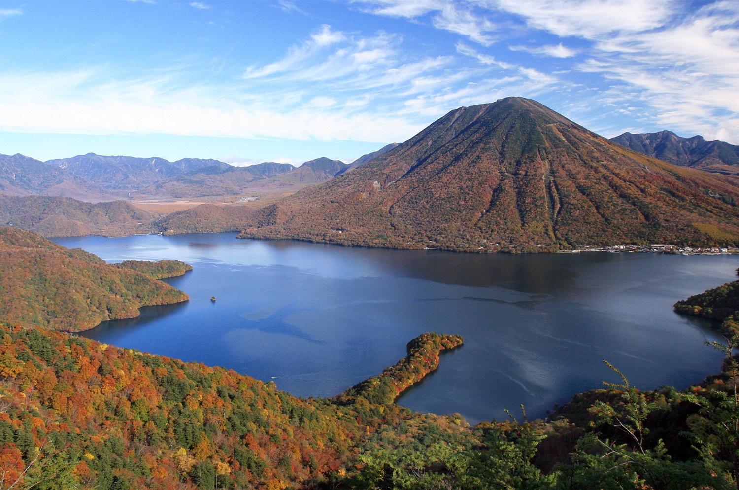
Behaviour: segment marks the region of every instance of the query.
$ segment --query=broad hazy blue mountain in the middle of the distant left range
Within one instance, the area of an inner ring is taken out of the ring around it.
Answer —
[[[163,158],[104,156],[95,153],[48,160],[48,166],[64,169],[69,174],[118,194],[137,191],[159,180],[177,177],[207,167],[231,168],[218,160],[184,158],[172,163]]]

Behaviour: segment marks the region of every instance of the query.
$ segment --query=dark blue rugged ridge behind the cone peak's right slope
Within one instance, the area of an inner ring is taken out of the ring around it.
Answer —
[[[724,141],[706,141],[698,135],[680,137],[671,131],[638,135],[626,132],[610,140],[674,165],[739,175],[739,146]]]

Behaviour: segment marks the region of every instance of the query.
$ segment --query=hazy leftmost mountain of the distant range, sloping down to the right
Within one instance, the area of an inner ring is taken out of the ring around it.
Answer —
[[[102,188],[22,154],[0,154],[0,194],[28,196],[110,197]]]

